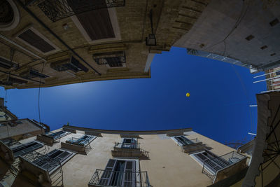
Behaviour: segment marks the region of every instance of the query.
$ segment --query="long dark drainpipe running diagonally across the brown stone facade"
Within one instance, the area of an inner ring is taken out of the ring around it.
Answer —
[[[76,55],[80,60],[82,60],[85,64],[87,64],[88,67],[90,67],[93,71],[97,72],[97,74],[99,74],[99,76],[101,76],[101,74],[94,69],[94,67],[92,67],[89,63],[87,63],[83,57],[80,57],[80,55],[78,55],[78,53],[76,53],[75,50],[73,50],[72,48],[70,48],[70,46],[68,46],[59,36],[57,36],[57,34],[55,34],[55,32],[53,32],[47,25],[45,25],[38,17],[36,17],[36,15],[34,15],[34,13],[32,11],[29,10],[29,8],[27,8],[27,6],[25,6],[25,4],[22,3],[22,1],[20,0],[16,0],[18,2],[18,4],[20,4],[20,6],[25,9],[25,11],[27,11],[27,13],[29,13],[29,15],[31,15],[32,18],[34,18],[40,25],[42,25],[48,32],[50,32],[50,34],[52,34],[52,36],[55,36],[55,38],[60,41],[60,43],[62,43],[66,48],[68,48],[74,55]]]

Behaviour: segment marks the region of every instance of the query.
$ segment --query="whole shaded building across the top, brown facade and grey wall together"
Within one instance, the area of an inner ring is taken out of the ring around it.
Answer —
[[[1,1],[1,85],[149,78],[154,55],[172,46],[256,71],[279,64],[277,1],[78,2]]]

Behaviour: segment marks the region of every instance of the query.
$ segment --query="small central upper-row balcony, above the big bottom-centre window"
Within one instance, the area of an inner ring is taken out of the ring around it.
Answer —
[[[113,157],[148,159],[148,151],[140,148],[136,143],[115,143],[111,151]]]

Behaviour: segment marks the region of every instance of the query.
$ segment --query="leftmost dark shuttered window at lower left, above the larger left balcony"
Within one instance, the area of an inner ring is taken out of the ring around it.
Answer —
[[[19,155],[25,155],[26,153],[35,151],[38,148],[43,147],[43,144],[39,144],[36,141],[31,141],[27,144],[22,144],[20,146],[16,146],[12,148],[13,155],[15,158],[17,158]]]

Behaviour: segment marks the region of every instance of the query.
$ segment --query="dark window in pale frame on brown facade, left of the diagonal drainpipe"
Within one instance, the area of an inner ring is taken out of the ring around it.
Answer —
[[[33,27],[25,29],[18,34],[17,39],[27,44],[31,48],[38,50],[39,52],[47,55],[59,50],[52,42],[50,42],[43,34],[38,32]]]

